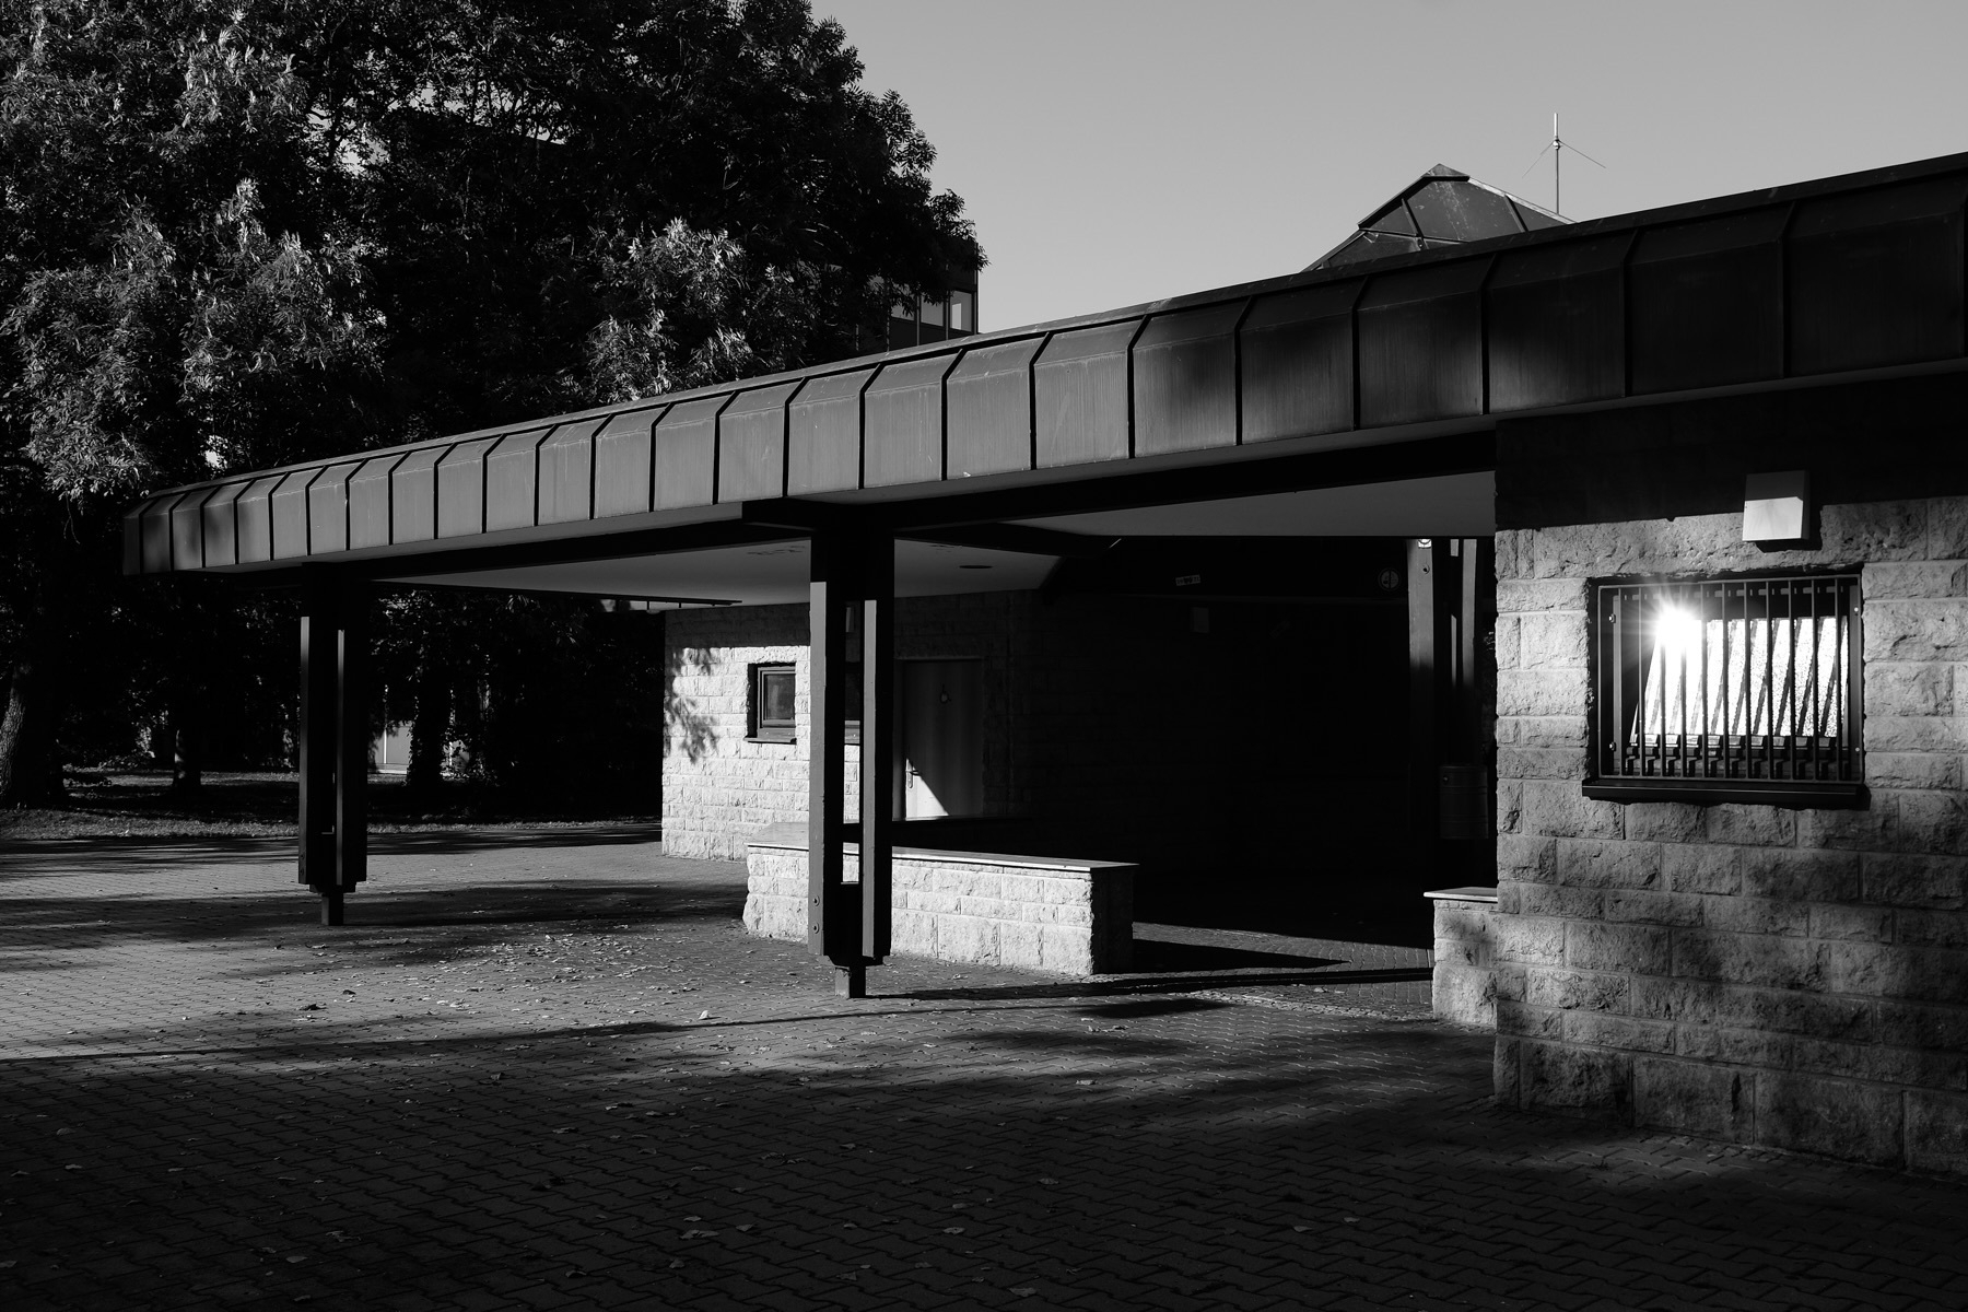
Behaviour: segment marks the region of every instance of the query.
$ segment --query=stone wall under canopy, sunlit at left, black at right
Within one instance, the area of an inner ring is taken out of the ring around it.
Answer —
[[[736,860],[766,824],[805,820],[807,612],[675,612],[667,643],[665,846]],[[1403,838],[1405,653],[1397,598],[903,600],[899,659],[982,663],[988,814],[899,842],[1139,862],[1145,919],[1293,930],[1380,903],[1425,938],[1429,873]],[[762,661],[797,667],[801,742],[746,740]]]

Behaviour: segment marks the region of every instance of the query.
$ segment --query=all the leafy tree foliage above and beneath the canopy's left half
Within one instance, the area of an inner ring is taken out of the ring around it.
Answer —
[[[805,0],[0,0],[0,55],[8,799],[63,653],[173,606],[266,645],[279,608],[110,586],[142,492],[852,354],[982,264]],[[464,614],[384,614],[453,698]]]

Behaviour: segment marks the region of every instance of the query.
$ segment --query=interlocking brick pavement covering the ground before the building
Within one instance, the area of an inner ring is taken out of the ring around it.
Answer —
[[[0,850],[0,1306],[1968,1306],[1958,1184],[1502,1113],[1283,976],[836,999],[644,838],[378,838],[337,930],[281,844]]]

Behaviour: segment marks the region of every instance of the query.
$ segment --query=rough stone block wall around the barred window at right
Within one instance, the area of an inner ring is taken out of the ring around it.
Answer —
[[[1968,498],[1498,535],[1496,1090],[1527,1109],[1968,1172]],[[1864,810],[1610,803],[1588,578],[1862,567]]]

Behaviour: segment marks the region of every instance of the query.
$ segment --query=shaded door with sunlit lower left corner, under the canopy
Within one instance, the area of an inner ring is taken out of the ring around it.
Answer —
[[[984,663],[897,661],[909,820],[984,814]]]

